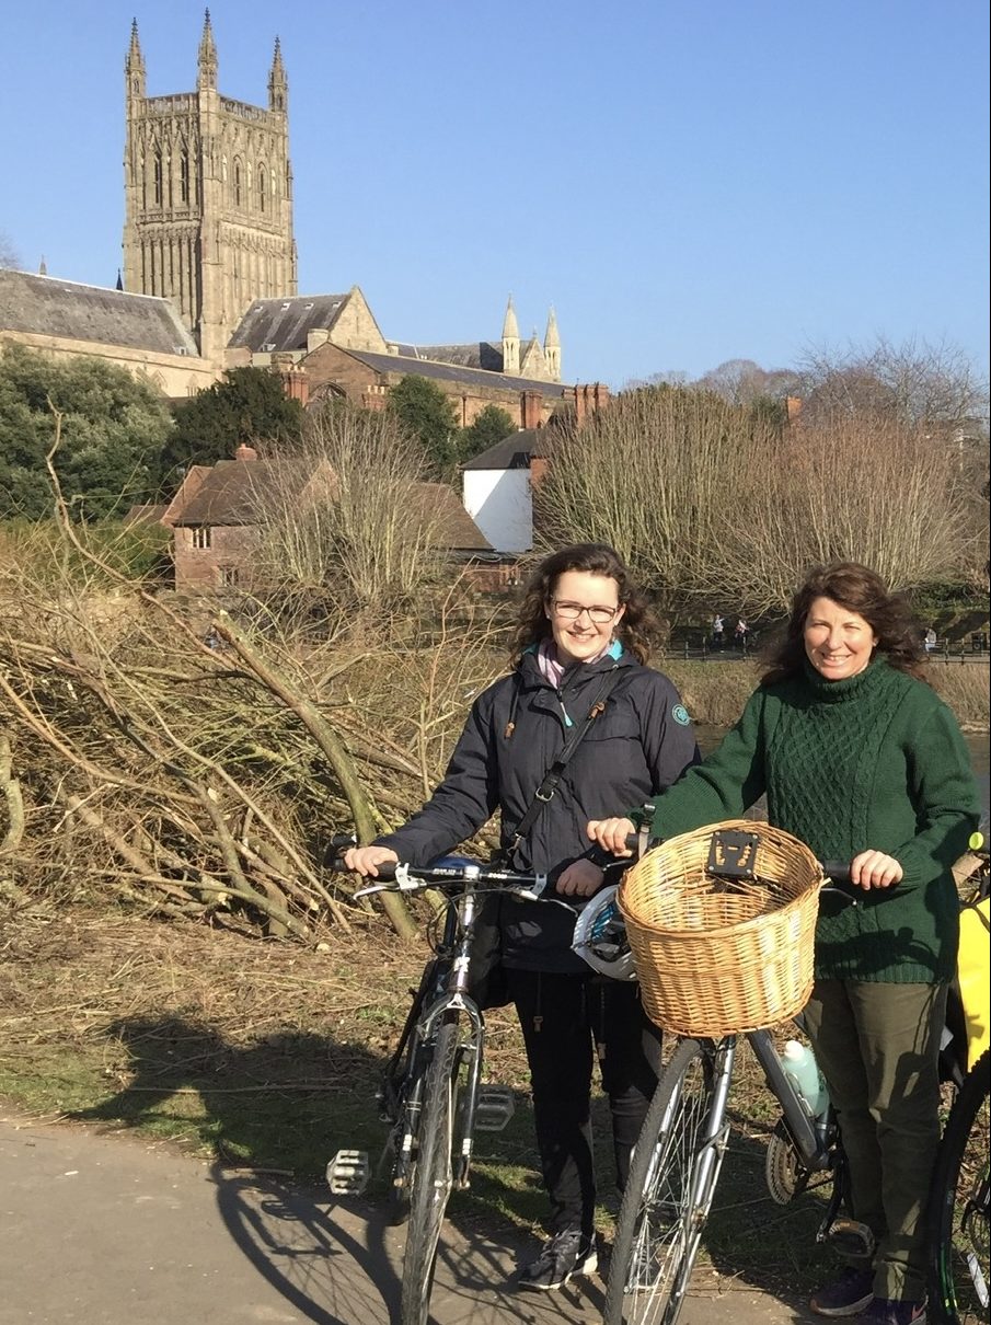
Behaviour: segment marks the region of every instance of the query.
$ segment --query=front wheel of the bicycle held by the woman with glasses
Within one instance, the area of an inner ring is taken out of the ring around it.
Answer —
[[[448,1015],[437,1030],[427,1068],[420,1143],[409,1200],[403,1257],[403,1325],[427,1325],[444,1211],[453,1183],[452,1137],[457,1113],[460,1034]]]

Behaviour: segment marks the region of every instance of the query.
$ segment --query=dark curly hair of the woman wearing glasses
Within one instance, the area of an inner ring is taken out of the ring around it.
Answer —
[[[629,571],[619,554],[607,543],[572,543],[559,553],[545,556],[527,580],[519,617],[513,637],[513,660],[531,644],[550,639],[551,623],[547,603],[554,596],[558,580],[566,571],[591,571],[616,580],[616,591],[625,612],[616,627],[616,637],[625,649],[647,662],[651,648],[660,632],[660,623],[644,594],[631,582]]]

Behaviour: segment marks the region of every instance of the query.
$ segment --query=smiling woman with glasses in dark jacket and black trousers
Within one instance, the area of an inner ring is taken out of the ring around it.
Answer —
[[[509,863],[546,871],[558,896],[580,906],[601,886],[600,864],[611,859],[590,851],[586,823],[617,803],[647,800],[698,761],[677,690],[645,665],[654,628],[611,547],[579,543],[547,556],[521,604],[513,672],[476,700],[444,780],[404,827],[350,851],[348,868],[374,874],[384,861],[427,864],[498,810]],[[556,791],[534,818],[537,790],[594,710]],[[515,829],[526,818],[521,839]],[[511,897],[501,902],[502,965],[523,1031],[551,1204],[551,1238],[519,1284],[554,1289],[596,1267],[594,1052],[623,1187],[657,1084],[660,1032],[644,1015],[636,984],[594,977],[571,951],[574,913]]]

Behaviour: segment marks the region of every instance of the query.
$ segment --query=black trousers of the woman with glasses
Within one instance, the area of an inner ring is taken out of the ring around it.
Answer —
[[[661,1032],[628,980],[509,970],[509,992],[523,1030],[534,1096],[537,1146],[551,1232],[592,1232],[595,1171],[590,1105],[592,1045],[612,1110],[616,1179],[629,1157],[657,1085]]]

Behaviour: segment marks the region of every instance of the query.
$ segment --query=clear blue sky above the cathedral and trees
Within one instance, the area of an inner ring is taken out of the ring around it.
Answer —
[[[0,235],[113,285],[123,60],[195,87],[203,5],[0,0]],[[984,0],[213,0],[220,90],[290,94],[299,292],[568,382],[791,367],[878,335],[988,372]]]

